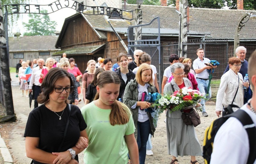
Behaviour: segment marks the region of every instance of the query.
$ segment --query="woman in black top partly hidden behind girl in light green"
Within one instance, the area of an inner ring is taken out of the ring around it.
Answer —
[[[88,88],[85,93],[84,105],[89,104],[90,102],[93,101],[94,96],[97,93],[96,87],[97,87],[98,77],[103,71],[105,71],[103,68],[97,68],[97,70],[95,71],[94,79],[93,81],[91,81],[91,84],[88,85]]]

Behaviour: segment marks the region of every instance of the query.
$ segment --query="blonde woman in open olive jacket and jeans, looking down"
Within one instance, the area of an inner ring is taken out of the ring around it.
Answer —
[[[151,103],[142,100],[143,93],[152,94],[156,92],[152,75],[151,66],[146,63],[141,64],[135,79],[127,84],[123,96],[124,104],[131,109],[136,128],[134,135],[139,148],[140,164],[145,163],[148,136],[149,134],[154,135],[155,132],[151,113],[146,111]]]

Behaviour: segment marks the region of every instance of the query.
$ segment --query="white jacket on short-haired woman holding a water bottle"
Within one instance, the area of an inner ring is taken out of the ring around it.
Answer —
[[[239,76],[239,88],[238,87],[238,76]],[[237,95],[234,99],[234,95]],[[226,72],[221,77],[221,84],[219,85],[219,90],[217,93],[216,98],[216,111],[222,111],[222,106],[225,108],[228,107],[229,104],[232,103],[232,100],[234,99],[233,104],[237,105],[239,107],[242,107],[244,104],[244,89],[243,89],[243,76],[241,73],[234,73],[231,69],[229,69],[228,72]]]

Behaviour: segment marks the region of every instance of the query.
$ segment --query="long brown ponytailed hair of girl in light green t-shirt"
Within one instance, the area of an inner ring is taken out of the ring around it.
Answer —
[[[99,75],[98,87],[103,88],[105,84],[119,84],[119,76],[113,71],[104,71]],[[99,99],[99,92],[96,93],[94,100]],[[109,122],[111,125],[123,125],[129,122],[129,114],[125,104],[115,100],[112,104],[111,112],[109,115]]]

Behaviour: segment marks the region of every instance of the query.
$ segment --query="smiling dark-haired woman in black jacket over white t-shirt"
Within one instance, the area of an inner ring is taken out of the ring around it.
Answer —
[[[123,98],[126,85],[129,83],[130,80],[133,80],[135,78],[135,74],[128,69],[128,57],[125,53],[120,53],[116,59],[118,65],[120,66],[120,68],[116,70],[116,73],[121,81],[119,95],[117,97],[118,100],[119,98]]]

